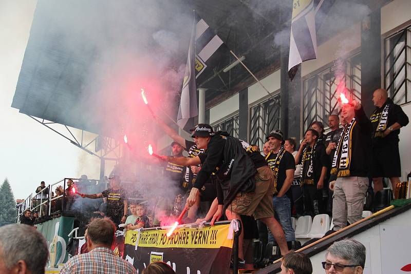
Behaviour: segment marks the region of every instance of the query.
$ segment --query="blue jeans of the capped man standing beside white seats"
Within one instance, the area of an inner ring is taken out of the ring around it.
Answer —
[[[286,236],[286,241],[295,241],[294,229],[291,222],[291,202],[287,195],[283,197],[273,197],[274,216],[275,219],[281,224]],[[274,242],[274,237],[271,231],[268,230],[268,241]]]

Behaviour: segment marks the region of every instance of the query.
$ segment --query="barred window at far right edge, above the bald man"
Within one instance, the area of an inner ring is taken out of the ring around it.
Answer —
[[[385,38],[384,87],[395,104],[411,102],[411,26]]]

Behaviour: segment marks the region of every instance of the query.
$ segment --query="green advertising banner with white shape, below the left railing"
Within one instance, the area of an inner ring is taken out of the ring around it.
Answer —
[[[49,267],[57,267],[58,264],[67,262],[67,235],[73,230],[73,224],[74,218],[59,217],[37,225],[37,230],[46,238],[49,247]]]

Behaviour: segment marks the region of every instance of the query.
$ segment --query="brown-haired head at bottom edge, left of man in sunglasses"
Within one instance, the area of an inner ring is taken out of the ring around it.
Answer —
[[[290,252],[281,259],[280,274],[311,274],[310,258],[301,252]]]

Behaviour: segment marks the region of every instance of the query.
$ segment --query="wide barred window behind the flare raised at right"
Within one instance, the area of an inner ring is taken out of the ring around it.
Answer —
[[[338,73],[339,72],[339,73]],[[335,75],[338,74],[339,77]],[[342,89],[344,86],[346,89]],[[340,87],[337,88],[340,84]],[[344,90],[348,99],[361,102],[361,55],[355,54],[345,60],[331,63],[326,69],[311,75],[303,81],[303,128],[312,122],[328,124],[330,114],[340,112],[339,96]]]

